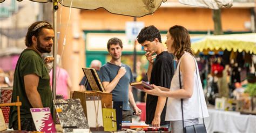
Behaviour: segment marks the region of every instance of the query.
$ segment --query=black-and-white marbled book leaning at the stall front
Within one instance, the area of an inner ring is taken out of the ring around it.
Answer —
[[[80,99],[55,99],[53,104],[63,132],[73,132],[73,129],[89,129]]]

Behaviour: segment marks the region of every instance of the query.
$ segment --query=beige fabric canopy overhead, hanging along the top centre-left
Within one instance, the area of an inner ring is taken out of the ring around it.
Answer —
[[[22,0],[17,0],[22,1]],[[52,2],[52,0],[30,0],[33,2]],[[53,0],[53,2],[59,2],[64,6],[72,8],[96,10],[98,8],[104,8],[107,11],[114,14],[121,14],[132,17],[142,17],[147,14],[152,14],[156,11],[161,2],[167,0]],[[4,0],[0,0],[0,3]]]

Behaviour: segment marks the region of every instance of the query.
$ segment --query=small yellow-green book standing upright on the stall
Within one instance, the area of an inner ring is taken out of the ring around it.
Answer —
[[[102,116],[103,116],[104,131],[116,131],[117,130],[116,109],[103,108]]]

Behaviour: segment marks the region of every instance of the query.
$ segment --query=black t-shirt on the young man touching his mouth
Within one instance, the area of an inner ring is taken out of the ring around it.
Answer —
[[[173,75],[173,55],[168,53],[167,51],[163,51],[162,53],[157,55],[156,60],[154,61],[151,72],[150,84],[170,88]],[[147,94],[146,124],[151,124],[154,119],[154,113],[156,112],[157,108],[157,101],[158,96]],[[170,124],[170,122],[165,121],[165,112],[166,103],[163,112],[161,113],[160,125]]]

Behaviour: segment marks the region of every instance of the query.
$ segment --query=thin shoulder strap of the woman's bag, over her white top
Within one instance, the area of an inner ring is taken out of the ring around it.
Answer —
[[[194,57],[193,57],[194,59]],[[197,86],[198,86],[198,91],[199,91],[199,100],[200,100],[200,105],[201,105],[201,112],[202,112],[202,116],[203,116],[203,123],[205,125],[205,121],[204,121],[204,112],[203,112],[203,107],[202,107],[202,103],[201,103],[201,97],[200,97],[200,88],[199,88],[199,81],[198,81],[198,69],[197,69],[197,63],[196,63],[196,60],[194,59],[194,62],[195,62],[195,67],[196,67],[196,73],[197,73]],[[180,62],[181,64],[181,62]],[[179,88],[181,89],[181,79],[180,79],[180,64],[179,64]],[[183,124],[183,128],[184,128],[184,114],[183,114],[183,99],[181,98],[181,112],[182,112],[182,124]]]

